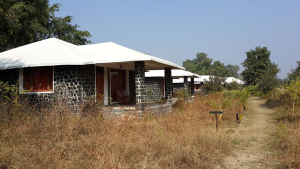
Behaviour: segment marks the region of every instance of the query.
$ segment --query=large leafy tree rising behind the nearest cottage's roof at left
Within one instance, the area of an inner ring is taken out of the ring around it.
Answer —
[[[0,51],[57,37],[73,44],[91,43],[88,31],[72,25],[72,16],[56,17],[61,4],[49,0],[0,0]]]

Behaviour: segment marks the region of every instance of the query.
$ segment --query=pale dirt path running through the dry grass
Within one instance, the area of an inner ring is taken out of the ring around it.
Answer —
[[[226,157],[218,168],[275,168],[274,152],[268,146],[275,126],[273,113],[264,100],[250,97],[241,123],[232,134],[233,156]]]

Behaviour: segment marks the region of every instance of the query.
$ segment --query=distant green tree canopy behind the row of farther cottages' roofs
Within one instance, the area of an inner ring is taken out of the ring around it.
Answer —
[[[189,60],[186,59],[182,62],[183,67],[187,71],[199,74],[199,75],[213,75],[214,73],[219,74],[222,77],[235,77],[238,78],[238,65],[224,65],[220,61],[214,61],[212,58],[207,57],[206,53],[197,53],[196,58]],[[211,64],[212,63],[212,64]]]

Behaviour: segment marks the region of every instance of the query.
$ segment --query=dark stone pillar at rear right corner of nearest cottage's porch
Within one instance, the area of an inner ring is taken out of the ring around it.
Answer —
[[[164,92],[167,103],[172,103],[172,71],[171,67],[164,67]]]

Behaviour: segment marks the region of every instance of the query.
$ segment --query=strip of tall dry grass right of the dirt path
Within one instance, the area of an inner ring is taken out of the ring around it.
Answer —
[[[292,111],[292,100],[284,90],[270,93],[266,99],[276,112],[272,145],[280,152],[280,168],[300,168],[300,108]]]

